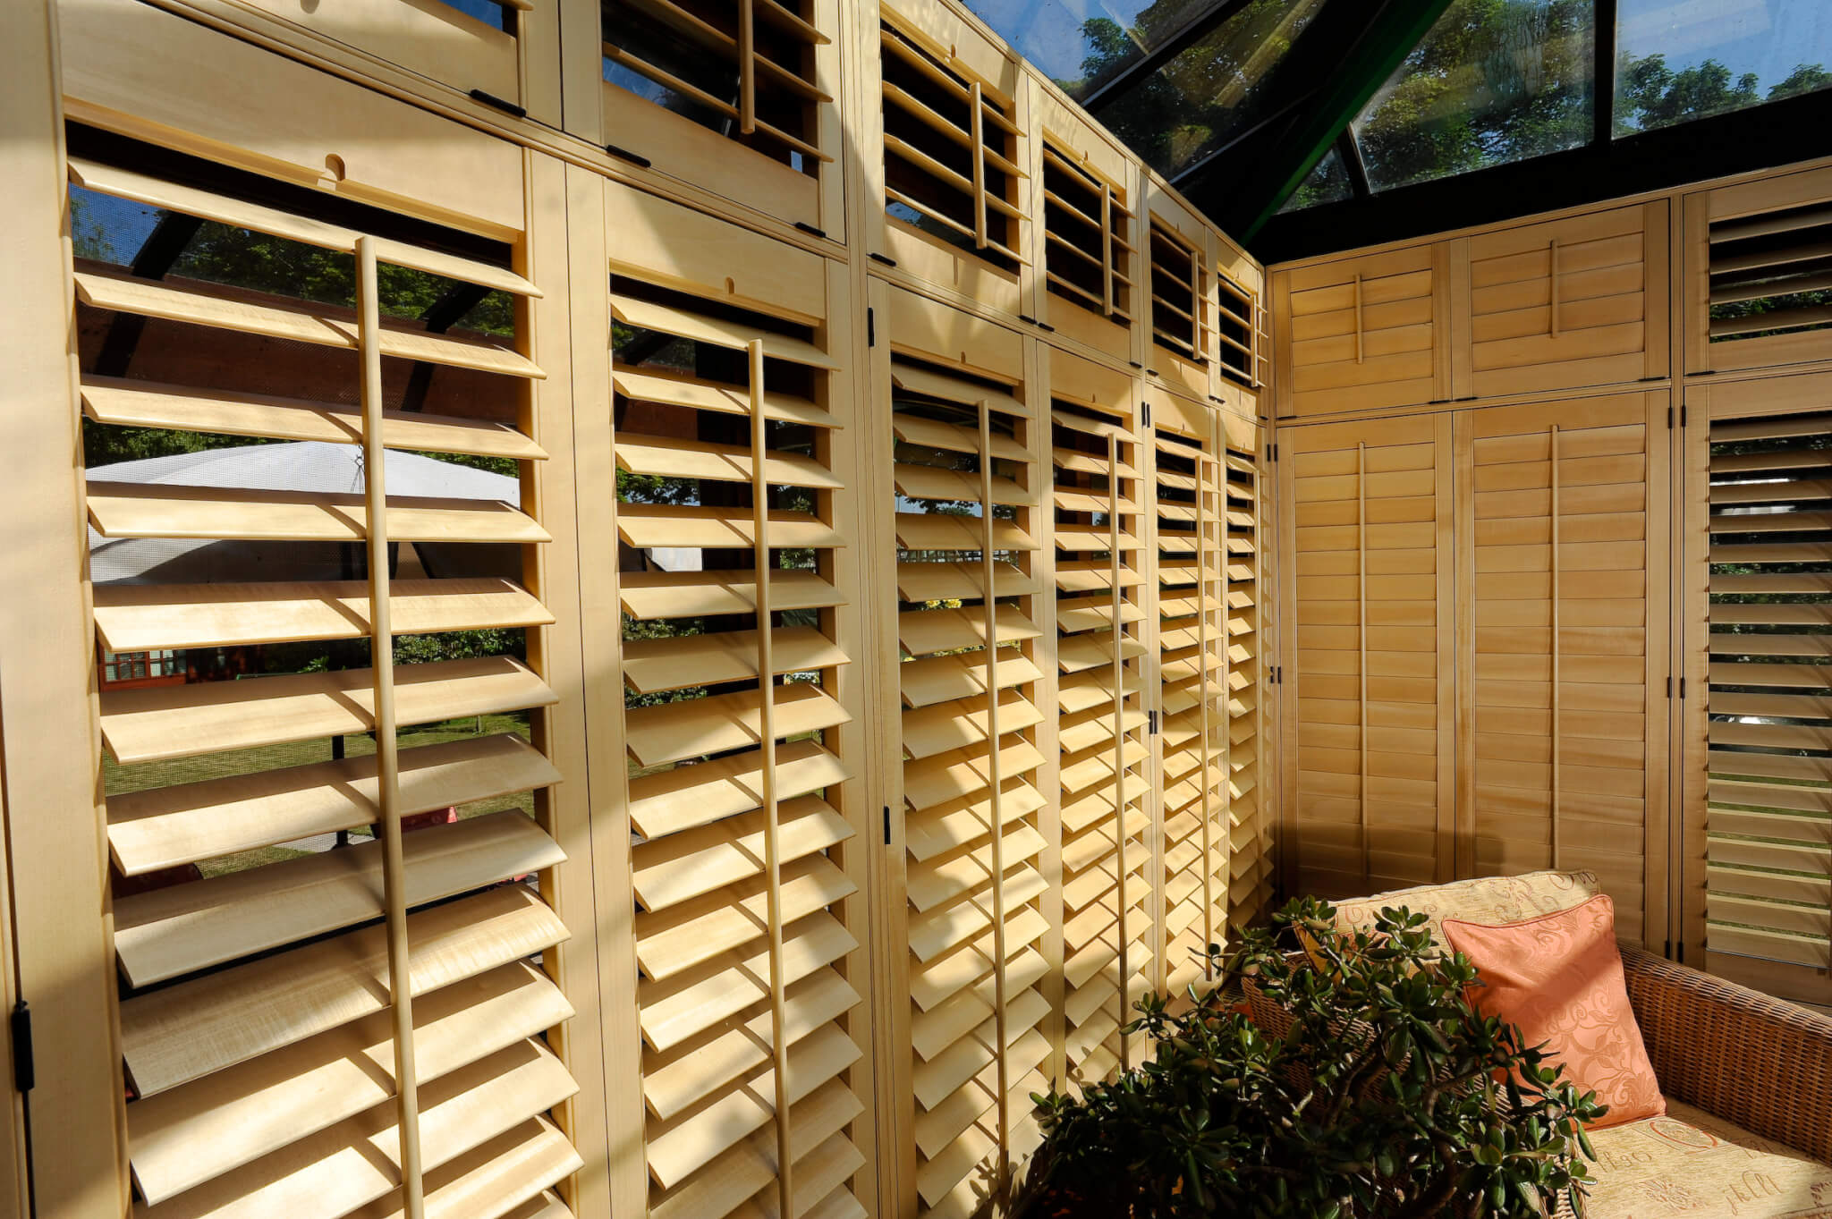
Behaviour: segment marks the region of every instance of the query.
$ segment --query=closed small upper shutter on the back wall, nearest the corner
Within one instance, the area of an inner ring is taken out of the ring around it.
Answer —
[[[1449,397],[1447,273],[1440,245],[1414,245],[1273,276],[1284,326],[1281,415],[1411,406]]]

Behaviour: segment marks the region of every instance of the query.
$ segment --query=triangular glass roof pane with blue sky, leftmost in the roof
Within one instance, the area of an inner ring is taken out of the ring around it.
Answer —
[[[1081,99],[1215,7],[1215,0],[969,0],[982,22]]]

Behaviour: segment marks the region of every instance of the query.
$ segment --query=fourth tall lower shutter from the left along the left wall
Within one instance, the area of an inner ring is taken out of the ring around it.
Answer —
[[[1063,1010],[1070,1084],[1138,1060],[1123,1038],[1152,988],[1145,520],[1130,377],[1052,357]]]

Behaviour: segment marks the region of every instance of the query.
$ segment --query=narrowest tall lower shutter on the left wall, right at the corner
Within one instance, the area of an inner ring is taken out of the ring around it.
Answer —
[[[1271,901],[1273,809],[1266,732],[1266,683],[1271,661],[1262,628],[1271,619],[1271,582],[1262,578],[1268,518],[1259,474],[1260,430],[1224,417],[1227,560],[1227,922],[1246,926]],[[1264,657],[1264,663],[1262,663]]]

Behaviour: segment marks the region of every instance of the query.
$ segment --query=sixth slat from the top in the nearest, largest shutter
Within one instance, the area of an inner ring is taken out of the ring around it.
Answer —
[[[396,666],[396,716],[403,725],[548,707],[557,697],[533,670],[506,655]],[[110,690],[101,703],[103,743],[121,765],[376,727],[374,675],[366,668]]]

